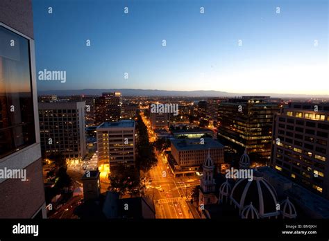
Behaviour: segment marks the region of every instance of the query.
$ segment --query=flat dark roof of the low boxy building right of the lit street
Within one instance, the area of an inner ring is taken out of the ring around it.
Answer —
[[[208,148],[224,148],[221,143],[214,141],[211,138],[204,138],[204,144],[200,143],[199,138],[193,139],[175,139],[171,140],[171,143],[177,150],[207,150]]]

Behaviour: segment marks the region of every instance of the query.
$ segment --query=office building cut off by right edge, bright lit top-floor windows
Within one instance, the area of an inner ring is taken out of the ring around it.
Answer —
[[[273,168],[329,199],[328,136],[328,104],[289,103],[274,118]]]

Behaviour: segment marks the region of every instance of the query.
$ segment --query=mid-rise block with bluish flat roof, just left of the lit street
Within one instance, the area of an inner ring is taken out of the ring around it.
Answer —
[[[135,121],[104,122],[96,129],[99,166],[135,165]]]

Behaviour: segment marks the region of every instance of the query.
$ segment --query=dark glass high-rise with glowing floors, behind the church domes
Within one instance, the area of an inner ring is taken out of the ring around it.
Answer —
[[[229,152],[240,155],[246,148],[253,161],[269,161],[273,116],[278,111],[278,104],[264,96],[243,96],[221,102],[219,141]]]

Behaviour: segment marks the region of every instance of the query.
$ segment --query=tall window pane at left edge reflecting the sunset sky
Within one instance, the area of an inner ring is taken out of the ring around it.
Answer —
[[[28,39],[0,26],[0,158],[34,142]]]

